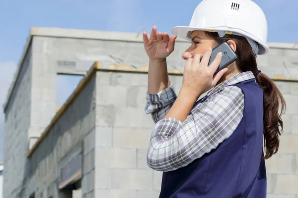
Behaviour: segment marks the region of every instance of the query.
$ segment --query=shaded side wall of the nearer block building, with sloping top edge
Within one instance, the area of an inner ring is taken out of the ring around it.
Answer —
[[[77,149],[82,150],[82,198],[94,197],[95,80],[93,76],[28,159],[26,189],[20,197],[35,192],[37,198],[71,198],[69,191],[58,190],[59,166]]]

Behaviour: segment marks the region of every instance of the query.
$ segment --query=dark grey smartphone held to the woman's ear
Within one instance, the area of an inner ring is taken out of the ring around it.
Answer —
[[[238,58],[235,51],[226,42],[224,42],[212,50],[212,54],[209,59],[208,66],[214,61],[214,59],[216,58],[217,54],[220,51],[223,53],[223,57],[221,60],[221,64],[218,67],[218,69],[215,71],[214,75],[217,74],[219,71],[221,71],[221,69],[223,69],[224,67],[228,66],[229,64],[237,60]]]

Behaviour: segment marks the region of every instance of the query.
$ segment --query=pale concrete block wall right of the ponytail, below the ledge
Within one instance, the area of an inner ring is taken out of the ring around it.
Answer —
[[[287,110],[279,151],[266,160],[268,198],[298,198],[298,83],[275,83],[285,97]]]

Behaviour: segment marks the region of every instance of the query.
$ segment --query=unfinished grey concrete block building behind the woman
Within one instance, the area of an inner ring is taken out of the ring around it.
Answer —
[[[288,106],[280,150],[266,161],[268,198],[298,198],[298,46],[269,45],[259,69]],[[188,47],[177,39],[167,61],[177,93]],[[3,198],[157,198],[147,65],[142,34],[31,28],[4,104]],[[83,78],[57,106],[61,74]]]

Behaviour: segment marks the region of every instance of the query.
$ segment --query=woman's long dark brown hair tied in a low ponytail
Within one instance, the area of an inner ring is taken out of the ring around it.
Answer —
[[[236,43],[236,53],[238,59],[236,60],[237,67],[240,71],[251,71],[256,75],[258,71],[256,57],[250,47],[248,41],[241,36],[225,35],[223,38],[219,37],[218,33],[206,32],[208,37],[213,38],[217,45],[224,41],[233,40]],[[256,77],[257,83],[262,87],[264,93],[264,146],[266,154],[264,159],[270,158],[278,151],[279,135],[283,131],[283,121],[281,115],[286,109],[286,102],[275,85],[275,83],[265,74],[260,73]],[[281,112],[279,113],[279,107]]]

